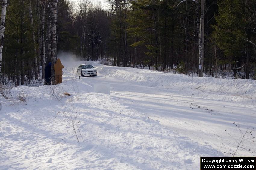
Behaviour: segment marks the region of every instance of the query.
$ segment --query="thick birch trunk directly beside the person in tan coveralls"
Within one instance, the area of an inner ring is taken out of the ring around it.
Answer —
[[[52,85],[57,84],[55,80],[55,71],[54,71],[54,64],[56,63],[57,60],[57,0],[52,0],[51,3],[51,11],[52,11],[52,50],[51,50],[51,80],[52,80]]]

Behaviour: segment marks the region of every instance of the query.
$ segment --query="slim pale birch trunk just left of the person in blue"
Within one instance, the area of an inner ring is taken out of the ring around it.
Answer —
[[[42,4],[41,19],[41,42],[42,42],[42,78],[45,78],[45,4]]]

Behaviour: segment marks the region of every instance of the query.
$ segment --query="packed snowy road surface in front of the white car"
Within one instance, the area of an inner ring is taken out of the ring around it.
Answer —
[[[105,76],[104,71],[99,73],[97,77],[82,79],[92,87],[97,83],[110,84],[111,96],[117,97],[121,103],[159,121],[180,136],[189,137],[201,145],[210,145],[223,153],[237,146],[225,131],[227,129],[239,139],[240,133],[234,122],[239,123],[244,132],[249,126],[256,127],[255,105],[218,100],[218,97],[217,100],[194,97],[186,94],[186,90],[172,92]],[[255,151],[256,147],[252,149]],[[243,151],[239,154],[254,155]]]

